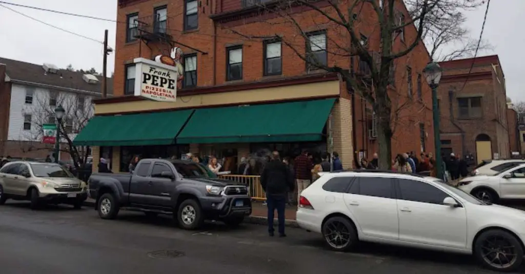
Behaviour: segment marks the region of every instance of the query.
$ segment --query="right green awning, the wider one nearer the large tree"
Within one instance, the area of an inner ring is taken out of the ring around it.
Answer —
[[[334,98],[196,109],[177,144],[318,141]]]

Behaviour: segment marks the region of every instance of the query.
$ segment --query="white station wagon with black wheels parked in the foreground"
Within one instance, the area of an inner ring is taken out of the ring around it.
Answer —
[[[486,203],[443,181],[415,174],[323,173],[303,190],[298,225],[333,250],[360,241],[473,254],[485,267],[523,261],[525,212]]]

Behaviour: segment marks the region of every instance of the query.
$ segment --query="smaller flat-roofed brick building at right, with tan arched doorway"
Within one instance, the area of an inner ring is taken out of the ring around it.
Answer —
[[[443,155],[472,154],[477,162],[509,158],[505,74],[498,56],[440,65],[444,69],[438,87]]]

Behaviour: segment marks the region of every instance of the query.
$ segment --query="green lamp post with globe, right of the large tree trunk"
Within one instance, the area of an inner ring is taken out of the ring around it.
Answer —
[[[423,69],[427,84],[432,89],[432,116],[434,119],[434,149],[436,151],[436,177],[443,179],[443,159],[441,157],[441,138],[439,137],[439,106],[437,104],[437,87],[443,69],[436,62],[429,62]]]

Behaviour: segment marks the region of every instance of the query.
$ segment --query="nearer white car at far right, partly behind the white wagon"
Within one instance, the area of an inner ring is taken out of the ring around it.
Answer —
[[[525,163],[504,169],[492,176],[464,178],[459,181],[458,188],[490,203],[500,199],[525,199]]]

